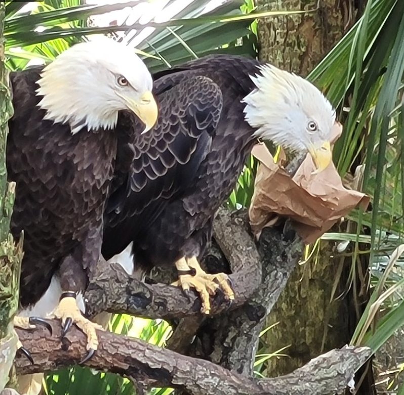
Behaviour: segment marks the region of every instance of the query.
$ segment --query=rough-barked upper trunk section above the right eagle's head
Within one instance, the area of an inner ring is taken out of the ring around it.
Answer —
[[[356,5],[355,5],[356,3]],[[306,11],[258,20],[260,59],[307,75],[354,22],[365,0],[257,0],[258,11]]]

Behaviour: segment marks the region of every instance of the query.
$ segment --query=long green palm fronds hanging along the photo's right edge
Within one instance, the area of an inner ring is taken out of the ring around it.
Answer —
[[[388,276],[383,275],[404,234],[403,15],[399,0],[370,0],[359,22],[309,75],[339,107],[344,131],[334,160],[340,173],[365,165],[363,189],[372,198],[372,210],[355,210],[348,218],[369,227],[371,234],[359,234],[359,226],[358,234],[339,234],[338,239],[347,237],[354,253],[371,256],[374,291],[352,342],[374,351],[404,324],[403,258],[394,260]],[[360,251],[359,242],[368,243],[369,249]],[[376,308],[384,310],[379,321]]]

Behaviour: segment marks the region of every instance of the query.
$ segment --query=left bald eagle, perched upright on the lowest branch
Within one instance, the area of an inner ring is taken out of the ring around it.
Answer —
[[[7,170],[16,182],[10,227],[17,241],[24,233],[15,325],[31,328],[39,321],[29,317],[56,317],[65,332],[73,322],[88,337],[90,357],[98,326],[82,316],[76,298],[100,257],[119,130],[128,117],[141,127],[134,133],[155,123],[152,78],[132,50],[105,39],[79,43],[45,68],[13,72],[10,80]]]

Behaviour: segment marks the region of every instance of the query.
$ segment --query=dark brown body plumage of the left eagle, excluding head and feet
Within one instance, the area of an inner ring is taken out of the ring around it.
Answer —
[[[16,182],[11,232],[18,239],[24,231],[22,307],[42,296],[63,262],[70,275],[62,288],[86,285],[100,253],[116,155],[111,131],[71,135],[68,126],[44,120],[37,107],[41,98],[35,96],[38,79],[37,69],[11,74],[15,114],[9,122],[7,170],[9,181]]]

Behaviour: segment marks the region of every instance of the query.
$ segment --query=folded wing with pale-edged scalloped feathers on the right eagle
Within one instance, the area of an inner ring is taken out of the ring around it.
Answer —
[[[153,132],[134,140],[132,174],[110,199],[102,253],[110,258],[147,231],[175,196],[183,195],[209,152],[222,97],[205,77],[158,85]]]

